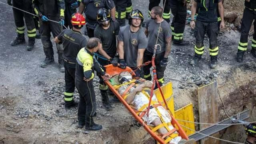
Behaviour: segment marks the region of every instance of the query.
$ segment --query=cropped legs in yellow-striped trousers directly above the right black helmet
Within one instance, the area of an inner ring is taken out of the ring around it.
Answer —
[[[125,19],[128,19],[132,12],[132,0],[114,0],[116,5],[116,19],[120,26],[125,26]]]

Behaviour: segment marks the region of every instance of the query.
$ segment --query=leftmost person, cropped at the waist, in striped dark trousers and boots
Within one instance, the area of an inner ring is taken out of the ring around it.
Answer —
[[[32,1],[31,0],[7,0],[7,3],[10,6],[14,6],[16,8],[20,8],[22,10],[25,10],[27,12],[32,13],[33,8],[32,8]],[[17,32],[17,37],[12,40],[10,43],[11,46],[17,46],[19,44],[25,44],[25,37],[24,37],[24,32],[25,32],[25,24],[24,20],[26,22],[26,27],[27,27],[27,32],[28,32],[28,46],[27,50],[30,51],[34,48],[34,43],[35,43],[35,38],[36,38],[36,28],[35,24],[33,21],[33,16],[31,14],[22,12],[16,8],[12,8],[13,10],[13,16],[14,16],[14,21],[16,25],[16,32]]]

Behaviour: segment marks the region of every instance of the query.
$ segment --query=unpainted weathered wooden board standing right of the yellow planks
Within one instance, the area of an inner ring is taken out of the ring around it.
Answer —
[[[198,111],[199,122],[216,123],[218,122],[218,92],[217,82],[214,81],[206,86],[198,88]],[[210,125],[200,124],[200,130],[208,128]],[[219,138],[219,133],[212,136]],[[219,140],[204,138],[200,144],[220,144]]]

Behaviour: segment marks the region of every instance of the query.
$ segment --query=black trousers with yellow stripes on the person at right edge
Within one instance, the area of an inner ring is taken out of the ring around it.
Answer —
[[[247,50],[248,34],[249,34],[250,28],[252,26],[253,20],[254,20],[254,34],[253,34],[253,39],[252,39],[252,49],[256,50],[256,33],[255,33],[256,11],[249,10],[248,8],[245,8],[243,18],[242,18],[240,42],[238,45],[239,53],[244,53]]]

